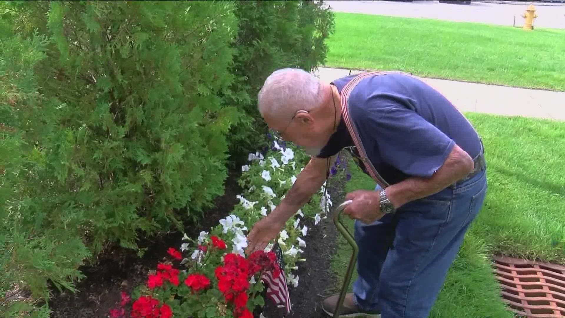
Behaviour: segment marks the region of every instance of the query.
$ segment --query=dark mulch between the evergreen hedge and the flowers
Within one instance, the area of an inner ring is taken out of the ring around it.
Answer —
[[[201,230],[218,224],[238,203],[236,195],[241,193],[237,184],[238,173],[229,175],[225,183],[225,194],[216,198],[214,208],[205,212],[205,217],[195,226],[186,228],[186,235],[197,237]],[[56,291],[49,302],[54,318],[108,317],[112,308],[120,302],[120,292],[131,294],[134,287],[147,280],[147,272],[155,269],[157,263],[167,258],[167,248],[179,248],[182,233],[175,232],[159,237],[141,239],[139,246],[147,248],[143,257],[127,248],[107,248],[93,264],[80,270],[86,278],[76,284],[77,294]]]

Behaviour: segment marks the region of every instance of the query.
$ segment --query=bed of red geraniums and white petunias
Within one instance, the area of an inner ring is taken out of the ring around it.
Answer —
[[[249,162],[242,166],[237,195],[240,204],[232,213],[198,238],[184,235],[179,250],[169,248],[170,261],[159,263],[149,273],[145,285],[132,293],[132,317],[253,317],[257,306],[264,306],[260,295],[264,289],[260,279],[266,271],[283,270],[289,287],[296,287],[299,277],[293,274],[306,246],[306,220],[317,225],[332,205],[329,195],[320,192],[290,218],[279,234],[284,255],[284,269],[276,264],[275,254],[257,251],[249,256],[246,232],[255,222],[270,213],[296,181],[296,175],[309,157],[300,149],[279,145],[273,141],[266,153],[250,153]],[[334,169],[334,168],[332,168]],[[332,174],[334,170],[332,170]],[[177,269],[179,268],[179,269]],[[111,317],[125,315],[131,299],[123,295],[121,307],[112,310]]]

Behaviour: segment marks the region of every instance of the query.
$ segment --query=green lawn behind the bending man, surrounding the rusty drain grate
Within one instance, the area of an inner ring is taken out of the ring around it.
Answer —
[[[565,123],[466,115],[483,136],[489,190],[430,317],[512,317],[499,300],[490,255],[565,263]],[[352,177],[346,191],[374,188],[371,178],[349,166]],[[353,231],[353,222],[349,225]],[[336,289],[350,251],[340,238],[332,262]]]

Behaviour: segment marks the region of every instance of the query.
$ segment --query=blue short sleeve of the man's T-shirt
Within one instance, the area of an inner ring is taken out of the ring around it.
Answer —
[[[366,102],[356,121],[361,135],[375,139],[381,160],[407,175],[432,177],[455,142],[397,98],[373,95]]]

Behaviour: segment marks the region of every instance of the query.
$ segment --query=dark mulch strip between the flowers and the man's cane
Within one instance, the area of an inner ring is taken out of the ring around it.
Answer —
[[[329,182],[328,192],[331,195],[333,207],[337,207],[345,197],[344,178],[334,177]],[[336,239],[340,235],[333,225],[332,216],[328,214],[325,220],[314,226],[308,226],[305,239],[306,247],[302,248],[304,263],[298,263],[295,275],[299,276],[298,287],[289,287],[292,311],[286,313],[285,308],[277,308],[266,299],[263,315],[267,318],[327,318],[321,310],[321,301],[325,296],[335,293],[333,274],[330,272],[332,255],[336,252]],[[259,310],[257,311],[260,312]],[[259,317],[259,314],[255,317]]]

